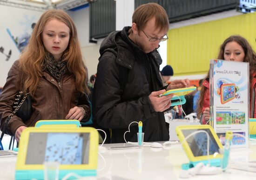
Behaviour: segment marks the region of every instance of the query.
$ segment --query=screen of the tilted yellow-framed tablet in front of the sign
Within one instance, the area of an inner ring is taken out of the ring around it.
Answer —
[[[216,143],[211,131],[209,129],[182,129],[182,133],[186,138],[191,133],[197,130],[205,130],[209,134],[210,146],[209,154],[219,153],[219,146]],[[207,135],[203,132],[197,133],[186,140],[189,144],[189,147],[195,157],[207,155]]]

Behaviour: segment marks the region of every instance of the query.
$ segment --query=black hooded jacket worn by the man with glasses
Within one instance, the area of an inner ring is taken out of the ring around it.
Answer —
[[[142,121],[144,141],[168,141],[163,112],[155,112],[148,96],[163,88],[159,74],[162,59],[158,51],[143,52],[128,38],[130,27],[111,32],[100,47],[101,57],[93,91],[94,122],[111,129],[111,142],[125,142],[124,133],[131,122]],[[113,49],[106,51],[106,49]],[[123,93],[121,66],[128,68]],[[126,141],[137,141],[138,124],[130,125]]]

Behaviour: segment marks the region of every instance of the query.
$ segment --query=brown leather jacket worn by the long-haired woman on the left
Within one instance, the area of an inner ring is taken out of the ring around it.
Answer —
[[[5,121],[13,112],[14,98],[19,91],[19,60],[17,60],[8,72],[7,82],[0,95],[0,127],[2,131]],[[14,135],[20,126],[34,126],[39,120],[65,119],[69,109],[75,106],[85,109],[87,114],[81,122],[87,122],[90,118],[88,96],[75,90],[74,76],[68,72],[65,73],[60,87],[51,75],[43,72],[37,90],[32,97],[30,118],[23,122],[20,117],[14,115],[7,125],[7,133]]]

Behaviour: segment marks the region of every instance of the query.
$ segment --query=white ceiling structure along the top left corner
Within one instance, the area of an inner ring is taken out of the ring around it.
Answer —
[[[45,11],[47,9],[69,10],[88,3],[90,0],[0,0],[0,5]]]

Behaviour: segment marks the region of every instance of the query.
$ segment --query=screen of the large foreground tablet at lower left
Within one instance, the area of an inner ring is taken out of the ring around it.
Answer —
[[[26,164],[88,164],[89,133],[30,133]]]

